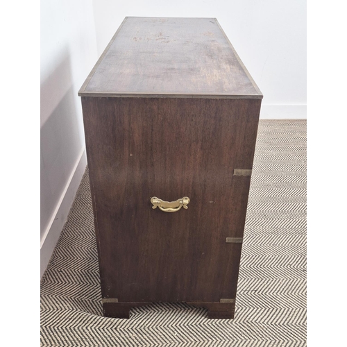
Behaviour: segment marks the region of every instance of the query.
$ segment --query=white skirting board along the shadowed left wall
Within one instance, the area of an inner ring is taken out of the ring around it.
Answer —
[[[85,149],[83,149],[81,155],[78,157],[74,169],[71,171],[67,185],[65,186],[62,196],[58,201],[55,212],[52,215],[51,222],[46,229],[41,239],[41,251],[40,251],[40,278],[42,278],[44,271],[51,259],[54,251],[54,247],[60,237],[60,232],[67,221],[72,203],[76,196],[77,189],[81,183],[83,174],[85,173],[85,167],[87,166],[87,156]]]

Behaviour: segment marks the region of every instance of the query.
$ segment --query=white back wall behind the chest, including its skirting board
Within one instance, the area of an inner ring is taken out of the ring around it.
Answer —
[[[264,94],[262,118],[306,118],[305,0],[94,0],[99,55],[126,16],[215,17]]]

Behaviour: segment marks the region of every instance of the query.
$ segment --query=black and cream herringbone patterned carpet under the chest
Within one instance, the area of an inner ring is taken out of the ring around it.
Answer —
[[[87,171],[41,289],[41,346],[306,346],[306,121],[260,121],[234,320],[178,303],[102,316]]]

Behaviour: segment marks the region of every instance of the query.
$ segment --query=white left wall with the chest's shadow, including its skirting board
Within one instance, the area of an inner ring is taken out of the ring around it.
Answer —
[[[42,276],[85,170],[77,93],[98,56],[91,0],[43,0],[40,12]]]

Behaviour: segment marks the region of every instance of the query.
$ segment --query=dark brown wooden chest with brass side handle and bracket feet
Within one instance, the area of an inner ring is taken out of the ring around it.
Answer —
[[[233,318],[262,93],[217,19],[126,17],[78,95],[104,315]]]

